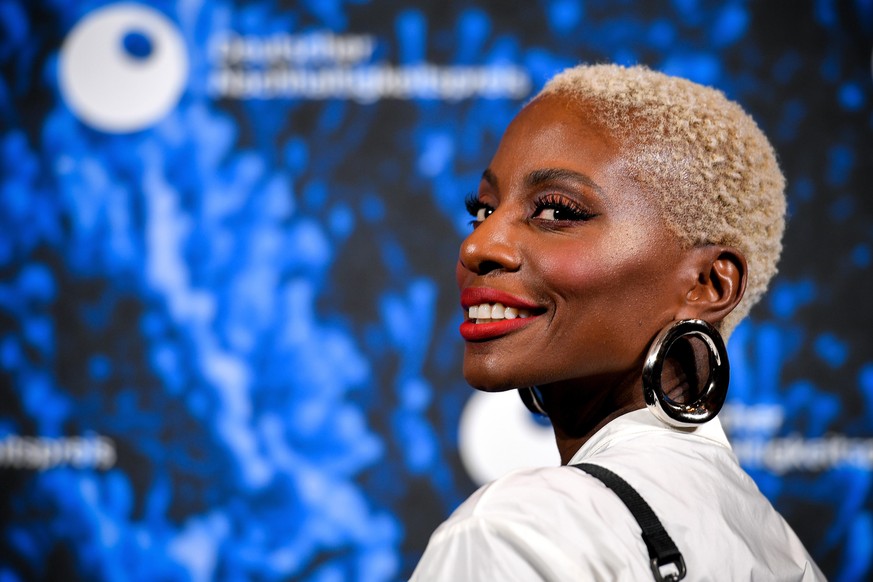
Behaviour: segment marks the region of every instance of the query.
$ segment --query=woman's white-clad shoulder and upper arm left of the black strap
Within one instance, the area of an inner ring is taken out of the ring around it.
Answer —
[[[647,560],[627,556],[645,552],[633,517],[599,481],[572,467],[541,467],[471,495],[434,532],[417,573],[422,580],[642,579]]]

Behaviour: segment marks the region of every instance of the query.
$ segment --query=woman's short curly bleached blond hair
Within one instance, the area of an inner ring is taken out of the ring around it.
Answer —
[[[729,245],[745,255],[746,293],[721,325],[729,336],[776,274],[785,229],[785,178],[755,121],[721,91],[643,66],[573,67],[537,97],[547,94],[585,102],[689,247]]]

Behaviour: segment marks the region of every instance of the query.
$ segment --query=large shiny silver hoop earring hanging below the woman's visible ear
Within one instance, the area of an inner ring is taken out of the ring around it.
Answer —
[[[709,378],[694,402],[683,404],[668,397],[661,387],[664,360],[680,338],[694,336],[703,341],[709,354]],[[724,340],[718,330],[702,319],[683,319],[667,326],[649,347],[643,364],[643,396],[649,411],[674,427],[691,427],[715,418],[727,397],[730,364]]]

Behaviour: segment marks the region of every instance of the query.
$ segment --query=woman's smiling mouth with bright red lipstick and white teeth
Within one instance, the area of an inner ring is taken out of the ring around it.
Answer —
[[[469,287],[461,292],[461,305],[467,320],[461,336],[467,341],[497,338],[529,324],[543,311],[537,305],[484,287]]]

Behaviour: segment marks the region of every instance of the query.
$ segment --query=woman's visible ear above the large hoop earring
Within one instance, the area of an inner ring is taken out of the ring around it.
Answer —
[[[746,291],[746,257],[733,247],[706,245],[690,251],[697,278],[685,295],[677,319],[703,319],[713,325],[734,310]]]

